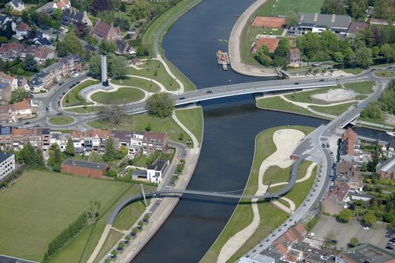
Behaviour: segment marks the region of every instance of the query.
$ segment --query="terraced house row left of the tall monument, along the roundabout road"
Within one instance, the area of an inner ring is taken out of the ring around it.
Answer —
[[[74,72],[82,72],[83,59],[79,55],[69,55],[60,61],[41,70],[29,82],[30,90],[39,92],[43,88],[51,88],[53,83]]]

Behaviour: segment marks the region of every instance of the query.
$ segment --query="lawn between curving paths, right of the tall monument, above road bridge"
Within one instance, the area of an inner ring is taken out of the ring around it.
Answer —
[[[147,60],[144,65],[140,66],[143,69],[128,68],[128,74],[133,76],[144,76],[149,79],[154,79],[165,86],[166,90],[178,90],[180,86],[167,72],[163,64],[159,60]]]

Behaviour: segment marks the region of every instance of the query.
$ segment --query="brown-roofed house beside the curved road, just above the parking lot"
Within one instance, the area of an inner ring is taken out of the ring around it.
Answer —
[[[337,215],[344,207],[347,194],[349,192],[349,185],[347,182],[335,182],[335,186],[330,191],[322,202],[323,209],[326,213]]]

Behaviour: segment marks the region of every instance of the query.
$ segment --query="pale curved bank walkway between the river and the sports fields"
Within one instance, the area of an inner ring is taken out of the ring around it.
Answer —
[[[262,4],[265,4],[267,0],[257,0],[254,4],[244,11],[240,18],[234,24],[232,32],[229,36],[229,60],[232,69],[235,72],[244,74],[247,76],[277,76],[276,69],[268,67],[259,67],[255,65],[248,65],[243,63],[241,60],[241,44],[240,39],[243,34],[243,30],[246,28],[247,23],[250,22],[250,18],[254,15]]]

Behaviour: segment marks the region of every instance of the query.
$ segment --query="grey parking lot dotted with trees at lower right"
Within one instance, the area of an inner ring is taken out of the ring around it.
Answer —
[[[379,248],[385,249],[389,238],[386,238],[387,228],[384,226],[375,225],[370,227],[369,230],[362,229],[362,225],[357,221],[350,221],[347,224],[338,223],[334,217],[328,217],[326,215],[321,216],[321,220],[316,224],[312,232],[315,234],[315,238],[323,241],[325,240],[328,233],[335,235],[337,239],[337,248],[347,249],[347,244],[350,239],[356,236],[359,239],[359,243],[371,243]],[[387,250],[392,251],[394,250]]]

